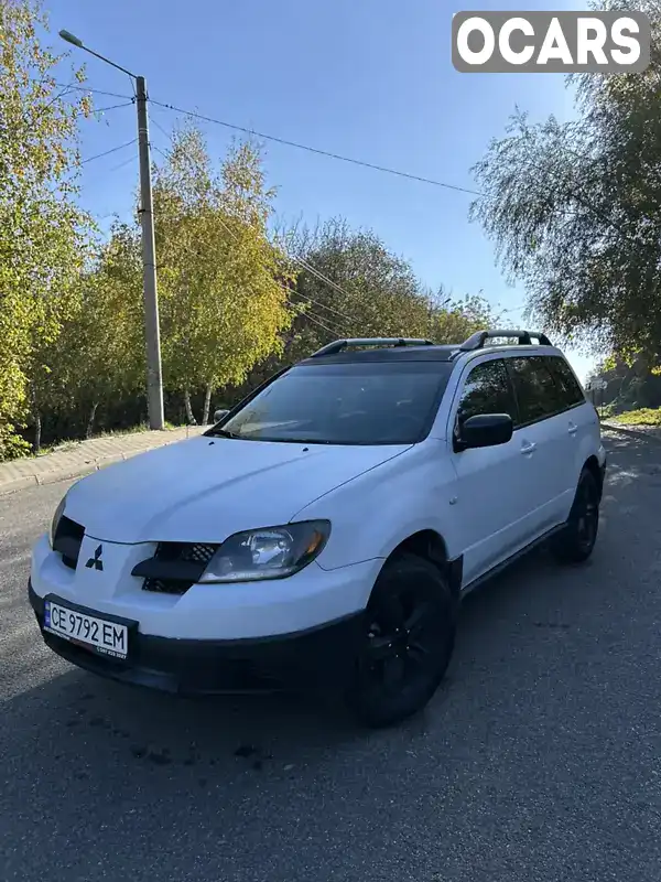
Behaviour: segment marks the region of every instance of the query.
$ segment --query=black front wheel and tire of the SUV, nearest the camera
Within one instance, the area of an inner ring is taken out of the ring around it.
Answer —
[[[365,616],[347,703],[371,728],[422,710],[454,649],[456,602],[437,567],[415,555],[388,561]]]

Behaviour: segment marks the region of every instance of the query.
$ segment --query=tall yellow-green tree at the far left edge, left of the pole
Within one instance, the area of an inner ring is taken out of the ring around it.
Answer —
[[[0,459],[24,450],[28,375],[43,370],[40,353],[72,309],[90,227],[75,203],[89,103],[56,85],[59,58],[36,35],[46,24],[37,2],[0,0]]]

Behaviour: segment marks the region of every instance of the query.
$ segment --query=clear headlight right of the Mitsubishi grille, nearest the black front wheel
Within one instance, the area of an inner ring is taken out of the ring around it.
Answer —
[[[237,533],[210,559],[201,583],[283,579],[319,555],[330,535],[328,520]]]

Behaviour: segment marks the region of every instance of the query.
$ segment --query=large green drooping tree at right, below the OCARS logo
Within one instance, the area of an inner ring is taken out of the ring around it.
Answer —
[[[618,0],[600,8],[627,10]],[[575,122],[511,121],[475,173],[472,207],[530,309],[585,349],[661,358],[661,12],[644,74],[576,78]]]

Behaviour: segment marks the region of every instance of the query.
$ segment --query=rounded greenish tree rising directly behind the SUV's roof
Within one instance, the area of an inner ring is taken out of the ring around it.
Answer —
[[[250,372],[239,397],[333,340],[407,336],[460,343],[491,324],[483,298],[430,291],[371,230],[354,230],[336,218],[316,229],[281,228],[277,236],[297,267],[290,293],[294,320],[283,334],[283,351]]]

